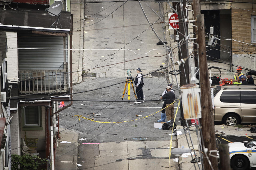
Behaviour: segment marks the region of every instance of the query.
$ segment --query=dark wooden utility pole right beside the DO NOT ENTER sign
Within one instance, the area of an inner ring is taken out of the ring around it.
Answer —
[[[180,4],[178,3],[178,15],[179,15],[179,40],[183,39],[184,38],[184,35],[185,36],[188,36],[187,35],[187,23],[184,22],[184,19],[187,18],[187,16],[184,16],[183,14],[187,14],[186,12],[186,1],[183,1],[182,2],[183,4],[183,7],[182,7],[182,10],[181,10],[181,6]],[[182,12],[183,11],[183,12]],[[182,22],[181,22],[182,20]],[[188,57],[188,41],[184,40],[181,42],[180,44],[180,48],[178,49],[179,50],[179,60],[181,60],[182,58],[186,58]],[[184,64],[181,64],[179,66],[179,70],[181,71],[180,72],[180,79],[181,79],[181,86],[185,85],[185,84],[189,84],[189,62],[185,62]]]

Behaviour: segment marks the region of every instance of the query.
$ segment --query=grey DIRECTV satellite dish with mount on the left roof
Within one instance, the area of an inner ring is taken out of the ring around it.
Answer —
[[[54,24],[57,22],[56,24],[56,28],[58,26],[59,23],[59,17],[61,16],[61,10],[63,7],[63,2],[62,1],[56,1],[54,2],[49,8],[45,8],[45,11],[49,13],[49,15],[51,16],[58,16],[57,20],[51,24],[51,27],[55,27]],[[61,23],[59,23],[61,25]],[[62,26],[61,26],[62,28]]]

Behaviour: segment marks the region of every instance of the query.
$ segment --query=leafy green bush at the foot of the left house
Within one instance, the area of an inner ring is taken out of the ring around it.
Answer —
[[[47,169],[49,161],[30,155],[11,155],[11,170]]]

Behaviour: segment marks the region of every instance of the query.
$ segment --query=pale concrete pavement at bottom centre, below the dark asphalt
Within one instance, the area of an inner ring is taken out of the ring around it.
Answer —
[[[78,162],[82,166],[78,169],[178,169],[178,163],[173,162],[172,157],[169,165],[170,141],[139,140],[79,145],[79,151],[83,153],[79,153]],[[173,145],[175,147],[175,141]]]

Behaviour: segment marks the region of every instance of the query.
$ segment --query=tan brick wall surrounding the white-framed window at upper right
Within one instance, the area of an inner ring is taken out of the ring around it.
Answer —
[[[251,44],[251,15],[256,15],[256,12],[232,9],[231,10],[231,22],[232,22],[232,39],[242,41],[244,43]],[[255,9],[253,9],[255,11]],[[256,44],[255,44],[256,45]],[[256,52],[255,45],[248,45],[232,41],[232,50],[240,51],[233,52],[236,54],[246,54],[244,51]],[[244,51],[241,51],[244,50]],[[248,52],[247,52],[248,53]]]

